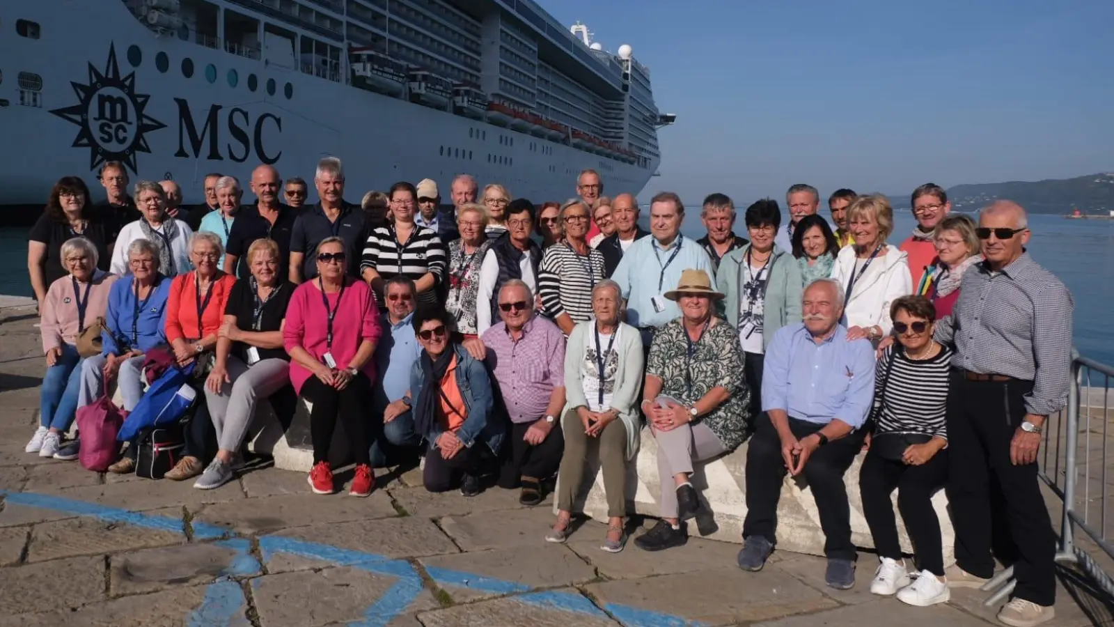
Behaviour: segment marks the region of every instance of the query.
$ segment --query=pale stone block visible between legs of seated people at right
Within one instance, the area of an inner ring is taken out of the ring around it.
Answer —
[[[701,515],[688,524],[691,537],[704,537],[727,542],[743,541],[743,520],[746,518],[746,451],[749,443],[734,452],[706,463],[694,464],[692,483],[701,494]],[[873,548],[873,539],[862,515],[862,499],[859,495],[859,469],[863,454],[859,454],[843,475],[848,501],[851,505],[851,539],[862,548]],[[607,520],[607,501],[604,496],[604,478],[598,472],[598,462],[589,463],[585,485],[580,490],[580,501],[576,508],[594,519]],[[672,481],[672,480],[670,480]],[[638,455],[627,464],[627,513],[658,515],[657,495],[657,442],[649,428],[643,428],[642,446]],[[893,510],[897,512],[897,492],[893,493]],[[940,519],[945,562],[954,561],[955,532],[948,517],[948,502],[944,491],[932,499],[936,514]],[[556,508],[556,504],[555,504]],[[897,513],[901,547],[912,552],[912,546]],[[696,524],[693,524],[695,522]],[[820,529],[817,504],[803,478],[785,478],[778,503],[778,548],[799,553],[823,554],[824,534]]]

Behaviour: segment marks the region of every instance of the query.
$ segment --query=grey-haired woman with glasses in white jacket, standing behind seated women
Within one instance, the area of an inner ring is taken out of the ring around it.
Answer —
[[[192,270],[189,238],[194,232],[188,224],[166,213],[166,192],[163,186],[150,181],[139,181],[135,186],[135,201],[141,216],[120,229],[113,251],[113,273],[127,273],[128,247],[136,240],[147,240],[155,244],[158,249],[158,266],[167,277]]]

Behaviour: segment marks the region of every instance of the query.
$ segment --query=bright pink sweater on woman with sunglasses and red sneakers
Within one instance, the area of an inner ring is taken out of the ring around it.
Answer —
[[[339,292],[326,295],[329,297],[329,308],[335,309],[333,318],[333,348],[331,350],[338,368],[346,368],[349,361],[355,357],[356,350],[363,340],[379,344],[379,338],[383,335],[383,327],[379,321],[379,307],[372,297],[371,288],[368,283],[348,278],[344,287],[344,298],[338,305]],[[306,281],[294,290],[290,298],[290,307],[286,309],[286,326],[283,327],[283,344],[286,353],[295,346],[306,349],[315,359],[322,361],[326,348],[328,338],[328,312],[325,305],[321,300],[321,290],[317,289],[317,281]],[[368,378],[375,380],[375,359],[370,358],[363,366],[363,373]],[[290,382],[294,389],[301,394],[305,379],[313,374],[300,365],[296,360],[290,363]]]

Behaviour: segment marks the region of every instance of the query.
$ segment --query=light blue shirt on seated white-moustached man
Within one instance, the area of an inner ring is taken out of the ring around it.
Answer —
[[[833,418],[862,426],[874,398],[874,348],[867,339],[847,341],[847,329],[819,345],[803,322],[782,327],[765,351],[762,409],[828,424]]]

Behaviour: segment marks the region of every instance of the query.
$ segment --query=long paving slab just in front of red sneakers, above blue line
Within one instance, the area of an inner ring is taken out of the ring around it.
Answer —
[[[309,492],[310,486],[305,484],[304,475],[302,483],[305,486],[302,494],[280,494],[206,505],[196,519],[234,529],[238,533],[254,534],[314,523],[398,515],[387,494],[372,494],[367,499],[356,499],[346,493],[321,495]]]

